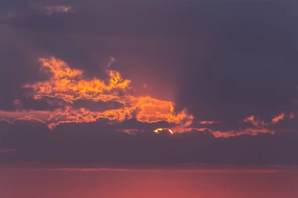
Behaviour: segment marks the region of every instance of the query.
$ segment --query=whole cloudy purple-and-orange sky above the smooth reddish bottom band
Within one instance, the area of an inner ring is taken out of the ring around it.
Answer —
[[[0,161],[298,164],[297,10],[2,0]]]

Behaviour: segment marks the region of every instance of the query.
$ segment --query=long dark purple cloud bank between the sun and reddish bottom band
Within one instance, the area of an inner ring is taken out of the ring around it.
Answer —
[[[298,149],[297,134],[243,135],[229,139],[195,131],[130,135],[100,123],[64,124],[51,132],[48,130],[37,123],[19,121],[9,125],[1,131],[1,147],[15,148],[16,152],[0,155],[1,161],[298,164],[294,152]]]

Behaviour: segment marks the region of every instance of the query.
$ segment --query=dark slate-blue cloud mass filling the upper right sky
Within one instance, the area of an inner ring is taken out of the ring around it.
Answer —
[[[293,109],[298,38],[289,4],[230,3],[220,9],[210,53],[198,60],[200,48],[189,48],[186,64],[197,67],[185,70],[179,101],[203,119],[270,119]]]

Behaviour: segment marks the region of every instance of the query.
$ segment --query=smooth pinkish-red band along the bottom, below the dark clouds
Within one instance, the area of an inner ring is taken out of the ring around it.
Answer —
[[[298,198],[298,172],[4,168],[0,198]]]

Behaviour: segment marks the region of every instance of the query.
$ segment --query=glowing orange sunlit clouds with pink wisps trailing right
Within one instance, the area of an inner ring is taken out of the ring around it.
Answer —
[[[194,117],[187,113],[186,109],[175,112],[174,102],[155,99],[150,96],[136,97],[131,88],[131,81],[122,79],[119,72],[110,70],[110,65],[115,61],[111,58],[106,67],[108,78],[101,80],[98,78],[86,79],[84,72],[79,69],[72,69],[63,60],[51,58],[40,58],[41,71],[49,75],[49,79],[43,82],[28,83],[23,86],[27,89],[28,96],[33,99],[46,99],[51,105],[58,103],[60,108],[54,111],[0,111],[0,117],[9,123],[15,120],[28,120],[46,123],[53,129],[61,123],[82,123],[95,122],[100,118],[106,118],[112,123],[122,122],[127,119],[136,118],[139,122],[159,122],[166,121],[174,124],[175,130],[169,128],[158,128],[154,132],[167,130],[171,134],[184,131],[208,132],[215,137],[234,137],[242,134],[256,135],[258,133],[271,133],[274,131],[266,129],[267,126],[276,124],[285,118],[285,113],[274,117],[271,123],[264,123],[256,119],[253,115],[242,120],[251,123],[255,128],[246,128],[236,131],[213,131],[208,128],[189,128]],[[52,100],[51,100],[52,99]],[[55,101],[56,100],[56,101]],[[122,107],[103,111],[94,111],[87,108],[74,108],[76,100],[89,100],[93,102],[118,102]],[[17,107],[20,101],[14,101]],[[294,118],[291,113],[290,118]],[[199,121],[200,124],[222,123],[220,121]],[[138,129],[124,129],[126,133],[134,134]]]

